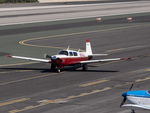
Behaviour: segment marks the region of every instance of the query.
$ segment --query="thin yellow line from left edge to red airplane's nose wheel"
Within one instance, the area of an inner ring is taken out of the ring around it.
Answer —
[[[61,72],[61,73],[63,73],[63,72]],[[24,78],[24,79],[9,81],[9,82],[4,82],[4,83],[0,83],[0,86],[12,84],[12,83],[18,83],[18,82],[27,81],[27,80],[33,80],[33,79],[48,77],[48,76],[53,76],[53,75],[57,75],[57,74],[58,73],[51,73],[51,74],[39,75],[39,76],[34,76],[34,77],[29,77],[29,78]]]

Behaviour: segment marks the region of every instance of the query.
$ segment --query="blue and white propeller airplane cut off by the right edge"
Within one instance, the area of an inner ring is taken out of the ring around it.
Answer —
[[[122,94],[124,99],[120,107],[131,109],[131,113],[135,113],[135,109],[137,108],[150,110],[150,90],[131,91],[132,87],[133,84],[129,91]],[[125,104],[126,100],[131,104]]]

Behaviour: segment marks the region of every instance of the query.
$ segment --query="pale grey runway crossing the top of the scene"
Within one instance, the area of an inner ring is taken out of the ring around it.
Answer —
[[[0,26],[104,17],[150,10],[149,1],[0,8]]]

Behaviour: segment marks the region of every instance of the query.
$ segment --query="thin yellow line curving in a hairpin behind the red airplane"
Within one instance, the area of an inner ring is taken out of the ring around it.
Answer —
[[[125,26],[125,27],[115,27],[111,29],[103,29],[103,30],[94,30],[94,31],[87,31],[87,32],[77,32],[77,33],[70,33],[70,34],[61,34],[61,35],[52,35],[52,36],[47,36],[47,37],[38,37],[38,38],[30,38],[27,40],[22,40],[19,41],[19,44],[24,45],[24,46],[32,46],[32,47],[43,47],[43,48],[55,48],[55,49],[64,49],[64,47],[56,47],[56,46],[40,46],[40,45],[33,45],[33,44],[28,44],[25,42],[28,41],[33,41],[33,40],[40,40],[40,39],[46,39],[46,38],[58,38],[62,36],[72,36],[72,35],[80,35],[80,34],[89,34],[89,33],[96,33],[96,32],[102,32],[102,31],[111,31],[111,30],[119,30],[119,29],[126,29],[126,28],[134,28],[137,26],[141,25],[131,25],[131,26]]]

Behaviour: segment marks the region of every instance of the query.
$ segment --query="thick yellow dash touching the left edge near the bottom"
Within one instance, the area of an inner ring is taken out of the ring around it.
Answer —
[[[17,99],[17,100],[11,100],[11,101],[8,101],[8,102],[2,102],[2,103],[0,103],[0,107],[10,105],[10,104],[14,104],[14,103],[24,102],[24,101],[27,101],[27,100],[30,100],[30,98],[21,98],[21,99]]]

